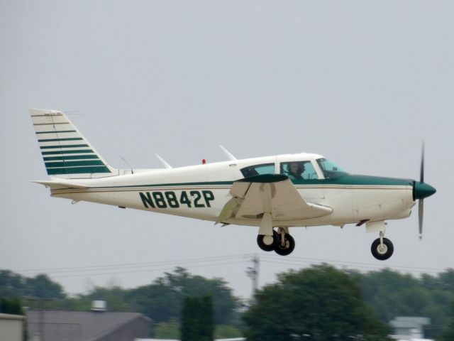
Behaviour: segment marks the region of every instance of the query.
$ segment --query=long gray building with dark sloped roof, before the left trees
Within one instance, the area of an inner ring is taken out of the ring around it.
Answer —
[[[30,341],[133,341],[151,335],[151,320],[140,313],[29,310]]]

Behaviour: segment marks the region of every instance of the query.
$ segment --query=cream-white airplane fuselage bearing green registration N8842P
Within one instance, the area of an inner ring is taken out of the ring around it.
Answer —
[[[316,158],[321,156],[302,153],[153,169],[106,178],[67,180],[68,183],[74,181],[89,188],[52,190],[52,196],[216,221],[224,205],[231,198],[229,192],[233,181],[244,178],[240,172],[241,168],[259,163],[275,163],[278,167],[279,162],[315,161]],[[319,173],[319,169],[316,168],[316,171]],[[279,173],[278,169],[276,173]],[[320,174],[319,179],[312,181],[313,183],[311,180],[300,184],[294,183],[298,193],[305,200],[331,207],[333,209],[331,215],[306,220],[273,219],[273,225],[279,227],[343,225],[362,220],[409,217],[411,207],[415,204],[411,180],[389,179],[390,183],[386,183],[387,178],[345,176],[360,177],[367,181],[347,184],[326,180],[326,183],[323,183],[321,179],[323,175]],[[398,183],[395,184],[396,182]],[[260,219],[236,218],[225,223],[258,226]]]

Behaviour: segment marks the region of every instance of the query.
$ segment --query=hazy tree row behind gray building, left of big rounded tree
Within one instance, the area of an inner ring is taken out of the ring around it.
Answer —
[[[179,321],[184,296],[207,295],[213,297],[215,323],[227,325],[238,321],[238,299],[226,281],[194,276],[181,267],[165,273],[148,286],[133,289],[96,287],[75,298],[67,298],[62,286],[45,274],[29,278],[0,270],[0,297],[24,298],[31,308],[87,311],[93,300],[104,300],[111,311],[143,313],[155,323]]]

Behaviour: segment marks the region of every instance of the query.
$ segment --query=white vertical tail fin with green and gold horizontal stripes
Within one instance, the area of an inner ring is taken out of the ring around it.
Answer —
[[[116,175],[65,114],[30,109],[48,175],[56,178],[102,178]]]

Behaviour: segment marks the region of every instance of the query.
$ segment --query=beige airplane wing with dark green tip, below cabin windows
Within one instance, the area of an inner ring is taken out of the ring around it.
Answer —
[[[261,219],[270,212],[272,220],[304,220],[333,212],[331,207],[306,202],[286,175],[265,174],[237,180],[232,195],[217,222],[228,219]]]

